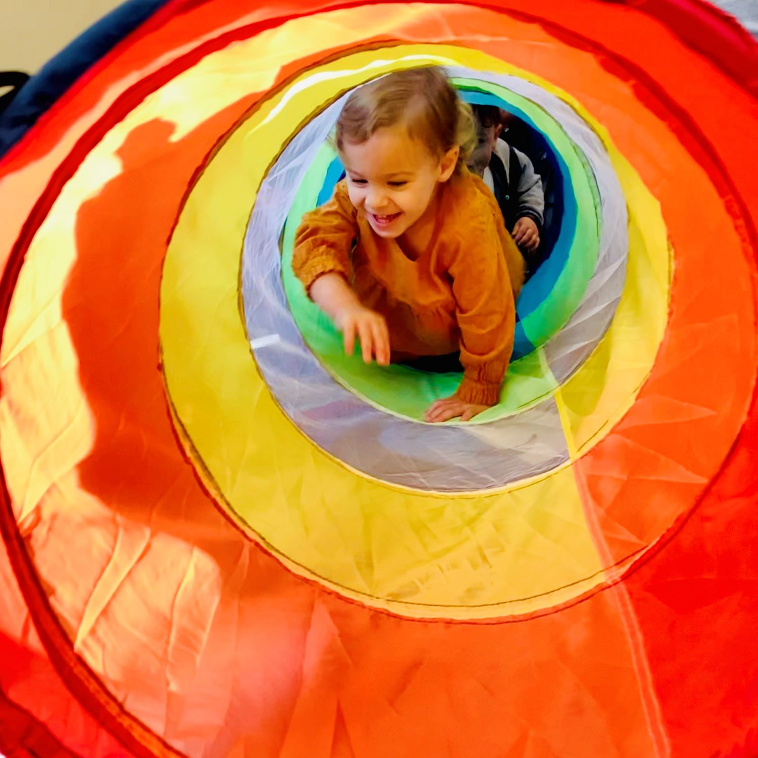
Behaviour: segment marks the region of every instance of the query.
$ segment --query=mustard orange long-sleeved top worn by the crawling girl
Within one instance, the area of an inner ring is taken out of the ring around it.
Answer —
[[[498,401],[524,260],[478,177],[463,171],[440,187],[431,241],[415,260],[403,252],[402,236],[374,233],[342,180],[329,202],[303,217],[293,269],[308,291],[321,274],[342,274],[362,304],[387,319],[393,361],[460,350],[458,396]]]

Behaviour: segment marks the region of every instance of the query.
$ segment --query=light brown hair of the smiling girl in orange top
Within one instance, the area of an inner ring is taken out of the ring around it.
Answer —
[[[377,130],[397,124],[436,158],[459,147],[456,171],[476,145],[471,108],[439,67],[394,71],[352,92],[337,119],[337,150],[346,142],[365,143]]]

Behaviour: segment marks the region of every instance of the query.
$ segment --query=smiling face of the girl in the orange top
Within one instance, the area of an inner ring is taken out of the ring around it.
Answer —
[[[453,174],[458,151],[435,158],[399,125],[377,130],[365,143],[346,142],[342,159],[350,202],[379,236],[396,239],[424,216],[437,186]]]

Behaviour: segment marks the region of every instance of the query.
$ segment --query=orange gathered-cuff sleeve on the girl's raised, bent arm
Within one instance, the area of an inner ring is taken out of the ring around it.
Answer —
[[[306,292],[322,274],[334,272],[350,280],[350,249],[357,235],[356,208],[342,180],[329,202],[302,217],[295,235],[292,268]]]

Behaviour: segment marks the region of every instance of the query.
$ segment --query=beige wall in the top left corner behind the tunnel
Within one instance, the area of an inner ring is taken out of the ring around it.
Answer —
[[[121,0],[0,0],[0,70],[33,74]]]

